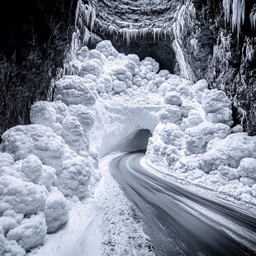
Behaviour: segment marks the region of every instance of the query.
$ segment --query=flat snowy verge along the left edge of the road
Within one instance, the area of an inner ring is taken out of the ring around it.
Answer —
[[[45,245],[28,255],[154,255],[133,206],[108,168],[110,160],[121,154],[115,152],[101,159],[102,179],[93,197],[74,202],[69,224],[47,235]]]

